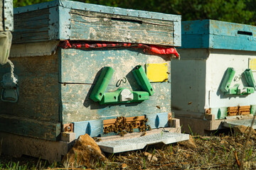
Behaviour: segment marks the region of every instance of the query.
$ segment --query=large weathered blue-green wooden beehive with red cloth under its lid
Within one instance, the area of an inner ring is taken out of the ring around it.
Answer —
[[[103,120],[119,116],[148,115],[153,128],[168,125],[169,56],[138,47],[63,49],[58,45],[77,40],[178,47],[181,16],[58,0],[14,9],[14,28],[11,61],[18,76],[18,101],[0,101],[2,132],[58,141],[70,123],[67,130],[73,128],[76,136],[100,135]],[[151,83],[155,93],[148,100],[101,105],[90,99],[103,67],[114,69],[107,92],[119,87],[142,91],[132,70],[137,65],[145,69],[146,64],[167,67],[167,79]],[[7,72],[8,65],[0,66],[0,77]]]

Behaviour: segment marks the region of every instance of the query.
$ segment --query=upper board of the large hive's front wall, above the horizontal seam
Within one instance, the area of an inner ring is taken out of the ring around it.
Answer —
[[[109,66],[114,69],[110,85],[127,77],[127,86],[138,86],[132,74],[135,66],[169,62],[166,56],[144,53],[142,48],[60,49],[59,54],[61,83],[95,84],[100,69]]]

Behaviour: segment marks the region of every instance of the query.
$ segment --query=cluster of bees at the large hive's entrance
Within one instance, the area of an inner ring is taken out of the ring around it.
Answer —
[[[104,133],[115,132],[117,135],[124,136],[127,132],[134,132],[134,128],[138,128],[139,132],[146,132],[151,130],[149,125],[146,125],[148,118],[138,120],[138,116],[134,117],[132,121],[127,122],[127,118],[120,116],[113,125],[104,128]]]

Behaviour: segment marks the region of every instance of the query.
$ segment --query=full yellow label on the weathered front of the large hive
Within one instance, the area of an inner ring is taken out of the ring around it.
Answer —
[[[146,64],[146,76],[150,82],[162,82],[168,80],[168,64]]]

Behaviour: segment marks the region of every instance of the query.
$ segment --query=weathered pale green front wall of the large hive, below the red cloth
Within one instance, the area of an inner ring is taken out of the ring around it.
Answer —
[[[101,106],[89,99],[90,92],[97,81],[100,69],[110,66],[114,69],[113,77],[107,91],[126,87],[133,91],[142,91],[132,74],[138,64],[167,63],[166,56],[144,54],[142,49],[108,48],[97,50],[61,49],[60,57],[60,91],[61,117],[63,123],[108,119],[117,116],[135,116],[147,113],[164,113],[171,111],[170,81],[151,83],[155,94],[142,103],[126,103]],[[127,83],[118,85],[119,79]],[[171,76],[169,74],[169,80]],[[156,106],[159,106],[157,108]]]

